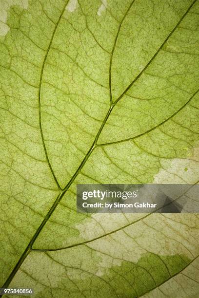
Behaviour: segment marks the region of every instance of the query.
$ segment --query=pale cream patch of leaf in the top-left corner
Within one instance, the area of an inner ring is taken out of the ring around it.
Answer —
[[[28,0],[0,0],[0,36],[5,36],[10,30],[6,24],[8,11],[11,6],[19,5],[22,8],[28,8]]]

